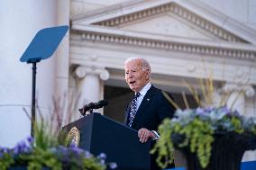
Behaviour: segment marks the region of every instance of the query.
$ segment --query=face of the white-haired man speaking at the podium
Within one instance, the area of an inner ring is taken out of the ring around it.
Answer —
[[[140,59],[132,60],[125,65],[125,80],[134,92],[140,92],[150,81],[149,70],[142,70]]]

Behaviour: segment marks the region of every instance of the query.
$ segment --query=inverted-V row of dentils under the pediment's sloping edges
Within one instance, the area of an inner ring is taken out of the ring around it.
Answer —
[[[94,22],[93,24],[108,26],[108,27],[117,27],[120,25],[125,25],[125,23],[127,24],[129,22],[139,21],[154,15],[161,14],[161,13],[173,13],[178,17],[186,20],[187,22],[190,22],[193,25],[196,25],[200,29],[203,29],[204,31],[211,33],[212,35],[214,35],[215,37],[221,40],[232,41],[232,42],[247,42],[246,40],[242,40],[241,38],[235,36],[234,34],[228,31],[224,31],[223,28],[211,22],[206,21],[206,19],[203,19],[202,17],[200,17],[195,13],[190,13],[185,8],[174,3],[160,5],[158,7],[147,9],[138,13],[122,15],[120,17],[106,20],[104,22]]]

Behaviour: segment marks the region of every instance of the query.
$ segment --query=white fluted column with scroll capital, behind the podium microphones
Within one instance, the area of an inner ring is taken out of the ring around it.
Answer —
[[[103,81],[109,78],[109,72],[105,68],[79,66],[75,70],[75,75],[78,78],[78,108],[103,99]],[[103,113],[102,111],[95,110],[95,112]]]

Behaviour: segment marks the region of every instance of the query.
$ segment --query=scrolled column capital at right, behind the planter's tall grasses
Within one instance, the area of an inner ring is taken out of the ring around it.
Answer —
[[[222,87],[222,92],[224,93],[243,92],[247,97],[252,97],[255,94],[255,89],[253,88],[252,85],[226,83]]]

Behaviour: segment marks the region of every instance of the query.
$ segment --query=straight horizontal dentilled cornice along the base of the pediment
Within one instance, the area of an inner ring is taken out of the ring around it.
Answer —
[[[136,31],[121,31],[96,25],[72,25],[71,39],[101,41],[106,43],[140,46],[164,50],[175,50],[187,53],[222,56],[227,58],[242,58],[255,60],[256,48],[251,44],[232,43],[225,41],[209,41],[185,39],[160,34]]]

